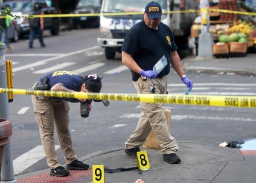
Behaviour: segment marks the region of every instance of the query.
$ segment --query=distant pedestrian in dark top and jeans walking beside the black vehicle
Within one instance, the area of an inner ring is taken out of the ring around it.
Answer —
[[[44,12],[41,11],[41,4],[35,3],[34,4],[34,15],[43,15]],[[41,44],[41,47],[45,47],[44,44],[44,37],[43,37],[43,31],[44,31],[44,18],[30,18],[29,21],[30,26],[30,34],[29,34],[29,48],[33,48],[33,41],[35,39],[35,36],[38,34],[39,42]]]

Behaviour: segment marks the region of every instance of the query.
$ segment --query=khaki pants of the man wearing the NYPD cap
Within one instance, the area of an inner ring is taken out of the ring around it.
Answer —
[[[166,94],[167,77],[154,78],[155,94]],[[149,80],[142,80],[141,77],[137,82],[133,82],[138,94],[152,94],[150,92]],[[125,142],[125,149],[131,149],[141,146],[151,129],[157,137],[157,142],[162,148],[163,154],[171,154],[178,151],[178,145],[174,137],[168,132],[166,117],[161,103],[140,103],[142,112],[140,115],[137,128],[132,132],[130,138]]]

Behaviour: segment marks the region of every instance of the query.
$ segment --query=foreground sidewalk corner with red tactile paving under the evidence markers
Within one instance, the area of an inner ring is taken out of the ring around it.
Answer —
[[[160,150],[141,148],[147,151],[151,169],[142,174],[137,170],[105,173],[105,183],[135,183],[137,179],[145,183],[254,183],[256,180],[256,151],[194,142],[178,142],[178,145],[177,155],[181,163],[166,163]],[[89,163],[90,168],[100,164],[110,169],[136,166],[136,159],[125,154],[123,148],[100,151],[79,159]],[[15,178],[18,183],[91,183],[92,172],[91,169],[71,171],[68,177],[55,177],[46,169]]]

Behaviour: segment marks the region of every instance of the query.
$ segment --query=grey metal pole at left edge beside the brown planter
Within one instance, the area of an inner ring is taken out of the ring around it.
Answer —
[[[5,44],[0,45],[0,87],[3,88],[7,88],[5,47]],[[0,109],[0,118],[9,119],[9,101],[6,93],[0,94]],[[0,183],[17,183],[13,172],[11,137],[9,140],[10,143],[4,147]]]

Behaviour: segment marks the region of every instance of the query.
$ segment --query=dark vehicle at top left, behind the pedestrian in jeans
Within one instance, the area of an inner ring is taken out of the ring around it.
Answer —
[[[3,6],[10,5],[11,12],[17,16],[27,16],[33,13],[34,3],[41,4],[41,11],[44,14],[60,14],[60,11],[55,7],[49,7],[45,0],[6,0]],[[19,37],[28,35],[30,31],[29,20],[18,18],[17,25],[19,26]],[[59,17],[44,18],[44,29],[50,29],[52,35],[59,34],[59,26],[61,20]]]

